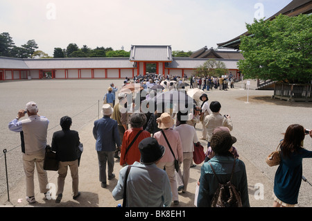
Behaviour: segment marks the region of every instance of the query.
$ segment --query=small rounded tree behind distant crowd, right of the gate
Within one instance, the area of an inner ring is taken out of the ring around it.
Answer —
[[[213,58],[207,60],[204,64],[200,65],[194,70],[194,74],[198,77],[202,76],[220,77],[227,72],[228,70],[224,62],[220,60],[215,60]]]

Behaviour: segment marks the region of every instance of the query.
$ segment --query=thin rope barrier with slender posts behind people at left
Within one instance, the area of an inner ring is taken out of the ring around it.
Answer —
[[[100,118],[100,100],[98,100],[98,102],[94,103],[93,105],[87,107],[86,109],[83,109],[83,111],[79,112],[78,114],[75,114],[73,116],[71,116],[71,118],[75,118],[76,116],[80,115],[80,114],[83,114],[83,112],[86,112],[88,109],[92,108],[92,107],[95,107],[97,106],[97,113],[96,113],[96,116],[98,118]],[[90,121],[94,121],[94,118],[96,117],[95,114],[93,115],[92,114],[92,117],[91,118],[88,118],[87,119],[87,122],[90,122]],[[53,129],[55,129],[55,127],[58,127],[59,125],[55,125],[53,127],[50,127],[48,132],[49,131],[52,131]],[[8,202],[10,202],[10,193],[9,193],[9,182],[8,182],[8,164],[7,164],[7,159],[6,159],[6,156],[9,152],[11,152],[12,150],[15,150],[17,148],[20,148],[21,145],[17,145],[15,147],[12,147],[10,148],[9,150],[7,149],[3,149],[3,154],[0,153],[0,159],[1,157],[4,158],[4,168],[5,168],[5,173],[6,173],[6,189],[7,189],[7,193],[8,193]],[[1,195],[0,195],[1,197]]]

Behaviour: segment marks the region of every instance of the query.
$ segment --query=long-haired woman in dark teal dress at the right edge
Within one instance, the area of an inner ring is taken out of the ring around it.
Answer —
[[[311,131],[310,131],[311,136]],[[275,173],[273,207],[293,207],[298,202],[302,182],[302,159],[312,158],[312,151],[303,148],[304,127],[287,127],[281,143],[281,162]],[[312,136],[311,136],[312,137]]]

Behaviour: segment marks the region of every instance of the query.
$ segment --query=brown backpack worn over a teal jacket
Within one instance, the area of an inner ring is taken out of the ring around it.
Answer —
[[[216,179],[218,180],[218,177],[216,175],[216,172],[214,171],[214,168],[211,166],[211,163],[208,161],[212,171],[214,172],[214,175],[216,176]],[[241,203],[241,193],[237,190],[236,186],[234,186],[231,183],[231,179],[234,173],[236,160],[234,160],[234,165],[232,169],[231,178],[229,179],[229,182],[226,184],[220,184],[219,180],[219,186],[214,193],[214,197],[211,200],[211,207],[242,207]]]

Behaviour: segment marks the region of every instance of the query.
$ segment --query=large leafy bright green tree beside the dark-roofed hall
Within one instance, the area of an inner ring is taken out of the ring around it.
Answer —
[[[279,15],[246,24],[250,36],[241,37],[246,78],[306,83],[312,80],[312,17]]]

